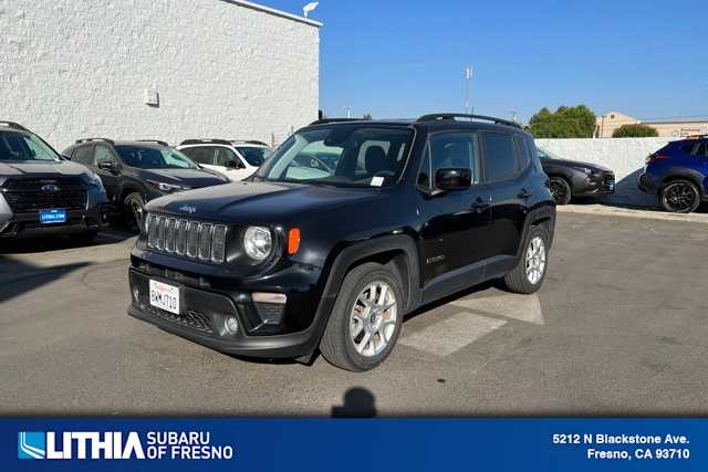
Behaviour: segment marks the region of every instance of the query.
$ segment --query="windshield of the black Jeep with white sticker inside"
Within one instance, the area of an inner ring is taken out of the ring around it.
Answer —
[[[339,125],[291,136],[257,178],[335,187],[387,187],[406,165],[412,129]]]

